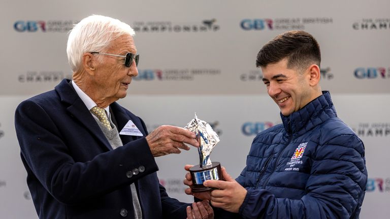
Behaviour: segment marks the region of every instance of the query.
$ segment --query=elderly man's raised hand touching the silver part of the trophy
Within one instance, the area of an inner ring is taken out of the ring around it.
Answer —
[[[146,141],[149,144],[150,151],[154,157],[168,154],[180,154],[179,149],[188,151],[189,147],[184,143],[199,147],[196,135],[187,129],[176,126],[160,126],[153,130]]]

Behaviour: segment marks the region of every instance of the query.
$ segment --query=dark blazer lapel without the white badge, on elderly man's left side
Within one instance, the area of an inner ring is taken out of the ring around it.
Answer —
[[[69,82],[70,80],[64,79],[59,85],[55,87],[55,90],[60,96],[61,101],[69,104],[67,110],[70,115],[78,120],[78,122],[80,122],[87,130],[89,130],[92,135],[101,141],[105,145],[105,149],[112,150],[110,142],[108,142],[102,129],[93,119],[84,102],[80,99]]]

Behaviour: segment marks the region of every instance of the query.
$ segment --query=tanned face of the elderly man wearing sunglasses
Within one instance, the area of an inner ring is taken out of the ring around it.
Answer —
[[[122,35],[111,43],[104,53],[126,55],[131,52],[137,54],[136,46],[131,35]],[[135,61],[130,67],[124,65],[124,57],[94,54],[96,61],[93,77],[93,87],[99,99],[112,100],[114,102],[127,94],[128,85],[132,77],[138,75]],[[101,57],[97,57],[101,56]]]

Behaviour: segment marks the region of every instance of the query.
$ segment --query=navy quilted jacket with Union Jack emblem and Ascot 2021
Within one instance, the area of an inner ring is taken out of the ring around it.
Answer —
[[[243,218],[358,218],[367,183],[364,145],[337,118],[329,92],[259,133],[236,179]]]

